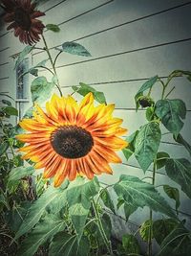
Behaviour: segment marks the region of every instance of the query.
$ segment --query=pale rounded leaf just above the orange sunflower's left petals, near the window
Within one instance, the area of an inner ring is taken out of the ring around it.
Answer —
[[[52,94],[53,87],[54,83],[48,82],[45,77],[38,77],[32,81],[32,102],[41,104],[47,101]]]

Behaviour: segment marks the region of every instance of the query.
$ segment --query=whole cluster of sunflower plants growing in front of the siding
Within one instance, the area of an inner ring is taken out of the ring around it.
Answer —
[[[107,105],[102,92],[80,82],[73,86],[70,96],[62,95],[55,65],[58,57],[63,53],[91,57],[87,49],[75,42],[65,42],[61,48],[54,49],[57,54],[53,59],[43,28],[59,33],[59,27],[44,26],[40,21],[32,23],[31,19],[42,15],[32,1],[25,1],[27,11],[22,1],[11,1],[13,6],[5,0],[0,2],[7,12],[7,22],[12,22],[15,17],[12,13],[19,10],[21,18],[14,20],[17,25],[11,28],[15,31],[20,28],[15,36],[20,35],[20,40],[29,44],[17,56],[15,67],[32,51],[39,50],[33,43],[40,39],[44,42],[40,50],[48,56],[21,74],[35,77],[31,84],[32,107],[15,127],[10,121],[18,115],[12,106],[14,100],[5,93],[0,94],[3,104],[0,108],[0,254],[145,255],[139,245],[139,241],[143,241],[147,244],[146,255],[151,256],[155,240],[159,244],[157,255],[190,255],[191,233],[185,220],[180,218],[179,189],[159,184],[157,179],[159,169],[163,168],[191,198],[189,158],[174,159],[170,152],[159,151],[161,130],[167,130],[175,142],[188,151],[188,157],[191,155],[191,146],[180,134],[186,106],[180,99],[169,99],[175,89],[169,89],[170,82],[178,77],[191,81],[191,72],[176,70],[166,80],[155,76],[142,84],[135,102],[137,111],[140,107],[145,110],[145,124],[124,141],[119,138],[126,132],[120,127],[122,120],[113,117],[114,105]],[[26,18],[28,27],[23,24]],[[33,28],[37,30],[32,37]],[[53,79],[48,81],[38,76],[39,69],[46,69]],[[161,97],[155,100],[152,92],[159,84]],[[60,97],[53,95],[50,101],[55,88]],[[75,102],[75,94],[82,96],[81,103]],[[45,111],[41,105],[46,102]],[[119,150],[123,151],[126,163],[134,155],[145,176],[140,179],[128,175],[127,169],[126,175],[107,186],[97,175],[112,174],[109,163],[120,163],[116,153]],[[35,170],[38,168],[43,169],[44,174]],[[161,187],[166,197],[175,202],[173,208],[159,193]],[[111,192],[116,195],[117,205]],[[126,221],[138,208],[148,207],[150,211],[148,220],[137,232],[123,235],[122,241],[114,237],[111,221],[120,207]],[[159,212],[158,220],[153,218],[154,212]]]

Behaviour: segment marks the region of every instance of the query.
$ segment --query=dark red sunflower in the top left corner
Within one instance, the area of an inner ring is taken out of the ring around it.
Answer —
[[[11,22],[7,30],[14,29],[14,35],[19,37],[22,43],[36,43],[40,40],[44,25],[37,17],[45,15],[44,12],[35,10],[36,4],[31,0],[1,0],[6,12],[5,22]]]

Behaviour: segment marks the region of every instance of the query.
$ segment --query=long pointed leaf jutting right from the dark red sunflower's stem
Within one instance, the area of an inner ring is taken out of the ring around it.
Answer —
[[[62,44],[62,50],[68,54],[90,57],[91,54],[84,46],[76,42],[65,42]]]

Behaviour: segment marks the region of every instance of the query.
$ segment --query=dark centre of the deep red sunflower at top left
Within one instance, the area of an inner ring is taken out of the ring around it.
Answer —
[[[31,17],[28,12],[22,8],[17,8],[14,11],[14,20],[16,24],[24,31],[29,31],[32,25]]]

